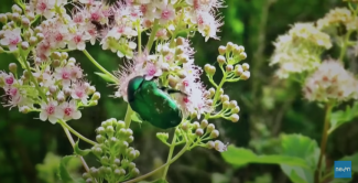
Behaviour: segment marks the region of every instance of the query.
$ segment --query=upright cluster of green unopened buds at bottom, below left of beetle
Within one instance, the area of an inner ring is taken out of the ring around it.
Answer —
[[[91,148],[91,152],[98,158],[101,166],[90,168],[83,176],[87,182],[95,179],[108,182],[122,182],[137,176],[140,172],[132,161],[140,155],[138,150],[129,147],[133,138],[133,131],[126,128],[121,120],[108,119],[97,128],[96,140],[98,144]]]

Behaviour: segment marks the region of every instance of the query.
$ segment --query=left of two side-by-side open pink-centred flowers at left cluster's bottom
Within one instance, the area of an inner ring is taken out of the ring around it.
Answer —
[[[46,121],[48,119],[48,121],[51,123],[56,123],[57,119],[59,117],[59,110],[57,107],[57,101],[48,101],[48,104],[46,103],[42,103],[41,104],[41,112],[40,112],[40,119],[42,121]]]

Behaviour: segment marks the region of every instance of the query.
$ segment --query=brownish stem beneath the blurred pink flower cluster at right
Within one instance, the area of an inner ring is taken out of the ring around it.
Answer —
[[[318,159],[318,164],[317,164],[317,170],[315,172],[315,183],[319,183],[321,181],[321,172],[322,172],[322,162],[323,162],[323,157],[326,151],[326,146],[327,146],[327,139],[328,139],[328,129],[329,129],[329,118],[330,118],[330,112],[332,108],[334,105],[327,104],[326,105],[326,114],[325,114],[325,121],[324,121],[324,128],[322,131],[322,140],[321,140],[321,153],[319,153],[319,159]]]

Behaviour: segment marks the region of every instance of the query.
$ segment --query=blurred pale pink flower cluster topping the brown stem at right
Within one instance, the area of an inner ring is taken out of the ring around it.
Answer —
[[[304,95],[315,101],[358,99],[358,80],[337,61],[325,61],[305,82]]]

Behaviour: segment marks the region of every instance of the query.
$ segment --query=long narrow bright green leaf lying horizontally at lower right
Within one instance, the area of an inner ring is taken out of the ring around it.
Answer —
[[[230,164],[242,166],[249,163],[263,164],[288,164],[308,169],[307,163],[300,158],[289,155],[258,155],[249,149],[229,146],[228,150],[221,153],[224,160]]]

